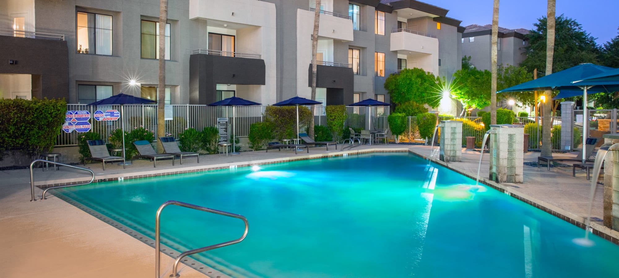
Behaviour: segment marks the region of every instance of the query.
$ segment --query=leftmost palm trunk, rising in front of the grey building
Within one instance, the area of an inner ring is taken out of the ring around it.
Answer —
[[[168,22],[168,0],[159,4],[159,85],[157,92],[157,153],[163,153],[160,137],[165,136],[165,24]]]

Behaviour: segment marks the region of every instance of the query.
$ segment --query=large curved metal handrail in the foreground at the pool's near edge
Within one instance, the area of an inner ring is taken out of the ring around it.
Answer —
[[[245,222],[245,232],[243,233],[243,236],[238,239],[230,240],[229,242],[219,243],[219,244],[210,245],[210,246],[206,246],[202,248],[197,248],[194,250],[184,251],[183,253],[181,253],[181,255],[178,255],[178,258],[176,258],[176,260],[174,261],[174,266],[172,267],[172,274],[170,274],[171,278],[181,277],[180,274],[178,274],[178,263],[180,263],[181,259],[183,259],[184,257],[189,256],[189,255],[194,255],[196,253],[201,253],[204,251],[213,250],[213,249],[220,248],[223,246],[233,245],[233,244],[242,242],[247,236],[247,232],[249,230],[249,223],[247,222],[247,218],[245,218],[245,216],[233,214],[233,213],[227,213],[225,211],[218,211],[217,209],[205,208],[204,206],[196,206],[195,204],[188,204],[188,203],[183,203],[180,201],[167,201],[163,203],[161,206],[159,206],[159,209],[157,209],[157,215],[155,216],[155,277],[157,278],[160,277],[160,265],[161,265],[161,251],[160,251],[161,249],[161,240],[160,240],[161,212],[163,211],[165,207],[167,207],[170,204],[173,204],[175,206],[182,206],[184,208],[196,209],[198,211],[206,211],[207,213],[214,213],[214,214],[219,214],[223,216],[234,217],[234,218],[241,219],[243,220],[243,222]]]

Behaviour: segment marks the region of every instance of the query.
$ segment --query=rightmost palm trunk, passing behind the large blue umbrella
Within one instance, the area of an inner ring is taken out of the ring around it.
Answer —
[[[548,0],[548,15],[546,30],[546,76],[552,74],[552,60],[555,56],[555,0]],[[550,143],[550,128],[552,128],[552,91],[544,91],[546,102],[543,104],[542,122],[542,153],[540,156],[552,155],[552,144]],[[587,105],[587,104],[584,104]],[[584,117],[586,119],[586,116]]]

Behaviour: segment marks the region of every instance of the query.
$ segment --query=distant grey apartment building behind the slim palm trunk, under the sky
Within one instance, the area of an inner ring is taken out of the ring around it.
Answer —
[[[490,51],[491,51],[491,32],[492,25],[472,24],[465,27],[460,43],[462,44],[462,55],[470,56],[470,63],[479,70],[490,70]],[[529,41],[524,37],[529,30],[508,29],[499,27],[498,40],[496,41],[496,64],[497,65],[519,65],[526,54],[524,48]]]

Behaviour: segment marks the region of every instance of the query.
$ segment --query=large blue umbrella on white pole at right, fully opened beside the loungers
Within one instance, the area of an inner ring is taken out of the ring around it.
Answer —
[[[572,83],[574,81],[583,80],[594,75],[599,75],[604,72],[614,70],[612,67],[604,67],[602,65],[595,65],[591,63],[579,64],[574,67],[570,67],[554,74],[546,75],[545,77],[537,78],[529,82],[506,88],[496,93],[503,93],[508,91],[543,91],[543,90],[559,90],[560,93],[557,97],[567,98],[569,96],[578,96],[582,94],[582,153],[586,153],[587,129],[589,128],[589,121],[587,120],[587,94],[588,93],[601,93],[608,91],[605,86],[588,85],[586,83]],[[585,162],[585,157],[582,156],[582,163]]]

